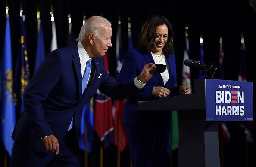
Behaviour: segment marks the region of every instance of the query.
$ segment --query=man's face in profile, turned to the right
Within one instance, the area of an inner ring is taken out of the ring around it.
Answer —
[[[104,56],[111,43],[112,28],[109,24],[104,24],[98,37],[95,37],[93,45],[93,57]]]

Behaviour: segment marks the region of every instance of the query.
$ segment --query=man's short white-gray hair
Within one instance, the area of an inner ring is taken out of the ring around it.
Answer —
[[[82,42],[90,33],[94,33],[95,37],[98,37],[100,35],[100,30],[103,27],[102,23],[106,23],[111,26],[111,22],[101,16],[92,16],[88,18],[81,27],[78,38],[75,40]]]

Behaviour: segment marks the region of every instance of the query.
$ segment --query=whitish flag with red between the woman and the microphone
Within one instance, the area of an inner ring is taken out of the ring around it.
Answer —
[[[186,45],[185,45],[184,56],[183,56],[183,63],[186,59],[189,59],[189,43],[188,43],[187,37],[186,37]],[[182,68],[182,86],[191,86],[190,67],[185,66],[184,64]]]

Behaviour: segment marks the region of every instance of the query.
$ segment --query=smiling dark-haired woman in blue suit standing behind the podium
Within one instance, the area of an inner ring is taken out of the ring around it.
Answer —
[[[133,79],[147,63],[166,65],[163,73],[154,75],[147,82],[144,92],[125,102],[123,123],[128,134],[133,167],[165,167],[172,128],[171,111],[139,112],[137,102],[190,93],[188,86],[175,86],[176,64],[172,41],[172,24],[167,18],[159,15],[149,18],[140,33],[139,48],[126,53],[117,80],[126,82]]]

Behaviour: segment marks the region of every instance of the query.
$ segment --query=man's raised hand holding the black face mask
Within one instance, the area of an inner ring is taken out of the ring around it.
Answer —
[[[156,70],[156,65],[153,63],[144,65],[139,75],[140,81],[146,83],[154,75],[155,70]]]

